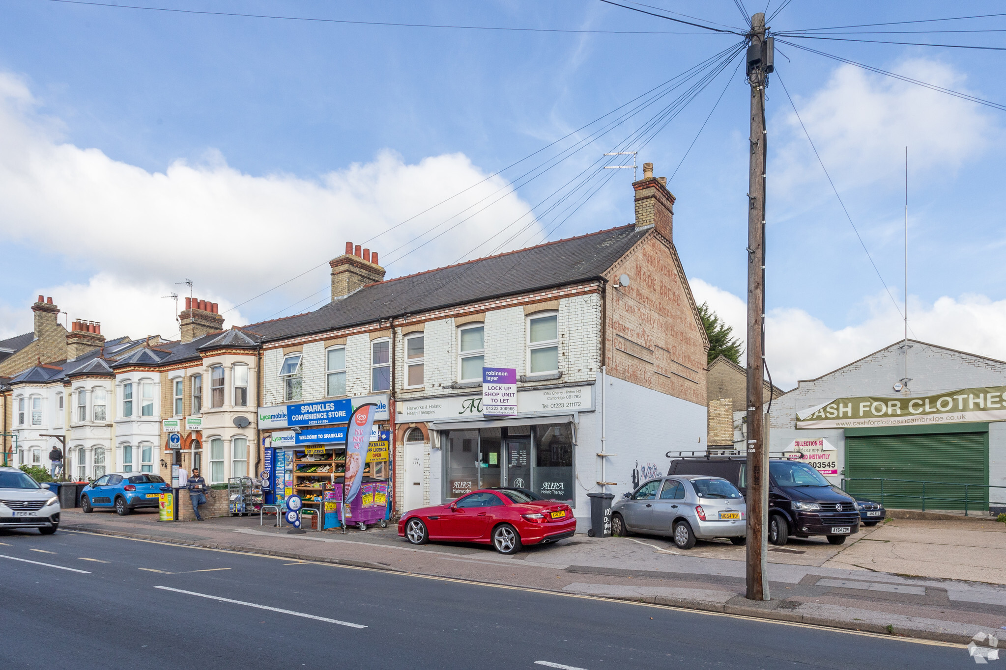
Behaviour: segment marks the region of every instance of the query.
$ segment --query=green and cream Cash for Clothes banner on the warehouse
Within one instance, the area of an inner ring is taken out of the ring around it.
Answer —
[[[797,428],[874,428],[1006,421],[1006,386],[916,398],[839,398],[797,412]]]

